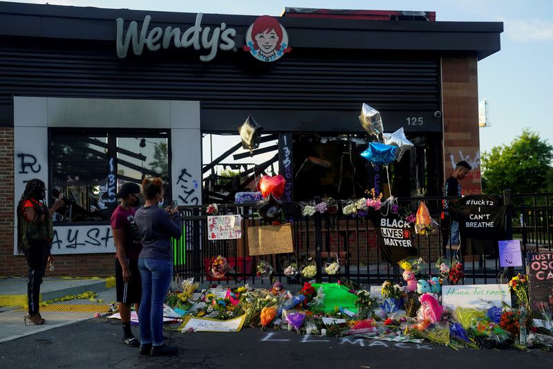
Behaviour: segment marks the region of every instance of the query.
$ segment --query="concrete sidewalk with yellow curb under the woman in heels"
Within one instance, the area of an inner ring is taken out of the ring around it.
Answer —
[[[0,344],[19,337],[62,327],[93,318],[96,312],[106,314],[115,301],[115,278],[44,278],[41,301],[54,300],[86,291],[97,293],[95,300],[74,299],[49,303],[41,307],[45,325],[24,324],[27,303],[26,278],[0,278]]]

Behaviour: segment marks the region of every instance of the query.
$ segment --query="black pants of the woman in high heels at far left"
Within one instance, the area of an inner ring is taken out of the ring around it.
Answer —
[[[29,269],[29,280],[27,283],[29,314],[35,315],[39,312],[40,284],[46,271],[48,255],[50,255],[50,242],[46,240],[31,241],[30,249],[28,249],[25,255]]]

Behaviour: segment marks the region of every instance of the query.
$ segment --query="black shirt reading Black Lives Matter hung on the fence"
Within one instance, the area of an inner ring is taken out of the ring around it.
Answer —
[[[413,224],[398,215],[384,217],[379,212],[375,212],[371,220],[375,226],[382,259],[395,263],[417,255],[417,249],[413,245]]]

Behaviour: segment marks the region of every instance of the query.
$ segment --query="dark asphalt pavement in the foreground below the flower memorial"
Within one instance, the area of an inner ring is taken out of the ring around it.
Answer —
[[[138,336],[138,328],[133,327]],[[119,342],[121,327],[97,318],[0,343],[5,368],[552,368],[541,350],[454,351],[430,343],[337,339],[243,328],[238,333],[166,330],[176,357],[140,357]]]

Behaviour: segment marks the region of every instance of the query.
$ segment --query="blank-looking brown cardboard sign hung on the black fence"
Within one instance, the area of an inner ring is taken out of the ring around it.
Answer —
[[[292,253],[292,226],[260,226],[247,228],[247,243],[250,256],[272,253]]]

